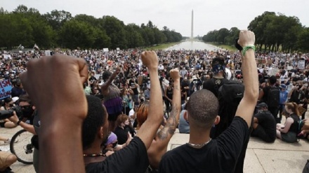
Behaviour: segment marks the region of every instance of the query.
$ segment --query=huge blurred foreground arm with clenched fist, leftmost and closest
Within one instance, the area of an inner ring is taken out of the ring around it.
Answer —
[[[81,127],[88,111],[83,89],[88,78],[86,62],[53,55],[30,60],[27,69],[20,74],[22,85],[37,110],[44,112],[40,115],[39,146],[44,146],[39,152],[44,158],[40,172],[85,172]]]

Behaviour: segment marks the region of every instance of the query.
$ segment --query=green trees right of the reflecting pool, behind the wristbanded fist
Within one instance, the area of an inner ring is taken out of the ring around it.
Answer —
[[[256,48],[259,51],[309,51],[309,28],[301,25],[295,16],[265,11],[254,18],[248,29],[256,35]],[[222,28],[208,32],[202,37],[205,42],[234,45],[239,29]]]

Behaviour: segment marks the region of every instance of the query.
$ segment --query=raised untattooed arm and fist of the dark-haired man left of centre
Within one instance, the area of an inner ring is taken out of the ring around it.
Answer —
[[[146,149],[148,149],[152,143],[152,140],[155,138],[155,134],[162,122],[163,100],[162,95],[158,95],[158,93],[161,93],[161,88],[158,76],[157,54],[155,51],[145,51],[142,53],[142,61],[150,72],[151,99],[147,120],[140,127],[136,136],[143,141]]]

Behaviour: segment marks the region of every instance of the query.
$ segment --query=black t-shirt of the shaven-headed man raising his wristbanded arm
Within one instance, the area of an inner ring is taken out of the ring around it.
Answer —
[[[159,172],[234,172],[247,135],[248,125],[237,116],[227,130],[206,146],[192,148],[185,144],[165,153]]]

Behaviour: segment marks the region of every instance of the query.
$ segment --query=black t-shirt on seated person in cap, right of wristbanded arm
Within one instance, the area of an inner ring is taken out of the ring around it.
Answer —
[[[266,134],[270,137],[276,137],[276,120],[270,111],[261,111],[254,115],[258,119],[258,125],[261,125]]]

